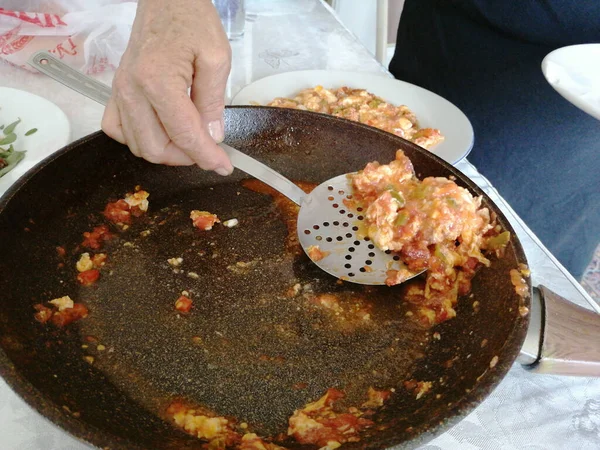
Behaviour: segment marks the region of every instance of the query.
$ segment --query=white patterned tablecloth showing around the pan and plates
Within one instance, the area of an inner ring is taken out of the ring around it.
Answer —
[[[232,43],[229,97],[254,80],[291,70],[388,74],[320,0],[248,3],[245,37]],[[112,75],[109,72],[97,78],[110,84]],[[71,121],[72,140],[100,128],[100,105],[46,77],[0,64],[0,85],[56,103]],[[476,168],[466,160],[458,168],[491,196],[515,227],[534,284],[544,284],[575,303],[600,311]],[[0,449],[85,448],[89,448],[87,444],[45,420],[0,380]],[[474,412],[423,448],[598,449],[600,379],[537,375],[515,365]]]

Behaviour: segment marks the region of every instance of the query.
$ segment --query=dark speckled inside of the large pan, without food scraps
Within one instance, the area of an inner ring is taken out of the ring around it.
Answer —
[[[293,180],[320,183],[372,160],[389,162],[402,148],[420,177],[454,175],[482,194],[429,152],[345,120],[231,107],[226,129],[229,144]],[[152,165],[98,133],[13,187],[0,203],[0,373],[13,389],[74,435],[131,449],[200,448],[161,417],[176,398],[268,435],[285,431],[294,409],[329,387],[344,389],[349,404],[364,401],[369,386],[394,387],[378,427],[355,446],[413,447],[467,414],[510,368],[527,328],[509,277],[525,262],[515,238],[474,279],[458,317],[426,332],[405,316],[402,287],[338,284],[296,252],[281,210],[243,187],[245,178]],[[136,185],[150,192],[149,214],[107,248],[110,274],[78,286],[82,233],[104,223],[104,205]],[[240,225],[199,232],[192,209]],[[57,246],[67,250],[64,260]],[[181,273],[167,263],[172,257],[183,258]],[[288,295],[295,284],[300,294]],[[194,299],[187,316],[173,309],[183,290]],[[346,309],[369,307],[370,320],[353,312],[340,320],[311,302],[321,293],[336,293]],[[33,319],[34,304],[63,295],[85,303],[89,317],[64,330]],[[433,389],[416,400],[403,387],[408,379],[432,381]]]

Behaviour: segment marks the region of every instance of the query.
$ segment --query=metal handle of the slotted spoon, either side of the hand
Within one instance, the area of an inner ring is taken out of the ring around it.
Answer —
[[[108,103],[108,99],[112,93],[109,86],[73,69],[46,51],[34,53],[29,59],[28,64],[50,78],[64,84],[66,87],[97,101],[101,105],[106,106]],[[302,199],[306,196],[302,189],[260,161],[227,144],[220,144],[220,146],[225,150],[234,167],[268,184],[297,205],[300,205]]]

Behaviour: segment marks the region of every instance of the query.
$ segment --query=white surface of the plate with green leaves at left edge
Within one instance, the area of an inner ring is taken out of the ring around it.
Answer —
[[[10,172],[0,177],[0,197],[25,172],[67,145],[71,137],[69,119],[54,103],[29,92],[0,87],[0,125],[6,126],[19,118],[21,123],[15,128],[17,140],[13,147],[27,153]],[[32,128],[37,131],[25,136]]]

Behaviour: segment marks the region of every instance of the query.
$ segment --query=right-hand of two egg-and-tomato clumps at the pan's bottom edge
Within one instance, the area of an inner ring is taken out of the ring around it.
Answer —
[[[348,408],[345,413],[335,411],[334,403],[343,397],[343,392],[330,388],[319,400],[294,411],[288,435],[300,444],[331,449],[346,442],[359,442],[360,432],[374,423],[362,417],[364,412],[358,408]]]

